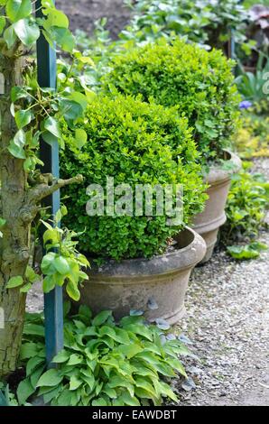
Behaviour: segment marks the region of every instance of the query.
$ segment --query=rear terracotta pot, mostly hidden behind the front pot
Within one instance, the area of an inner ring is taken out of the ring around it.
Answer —
[[[214,247],[218,240],[218,230],[226,222],[225,207],[227,195],[231,182],[231,175],[240,170],[241,161],[239,157],[231,152],[227,152],[227,161],[233,167],[231,171],[225,171],[219,167],[211,167],[206,181],[209,184],[207,193],[209,199],[206,202],[204,211],[194,217],[192,228],[201,235],[207,244],[207,253],[201,263],[206,263],[212,256]]]

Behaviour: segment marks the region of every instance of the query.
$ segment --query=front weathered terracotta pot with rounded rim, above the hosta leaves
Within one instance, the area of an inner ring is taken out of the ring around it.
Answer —
[[[108,260],[92,268],[89,281],[81,288],[81,304],[94,313],[114,311],[116,319],[129,315],[130,309],[142,309],[151,321],[164,318],[176,323],[185,314],[184,298],[190,272],[206,252],[206,244],[187,228],[177,237],[171,253],[153,259],[131,259],[119,263]],[[158,309],[149,309],[153,301]]]

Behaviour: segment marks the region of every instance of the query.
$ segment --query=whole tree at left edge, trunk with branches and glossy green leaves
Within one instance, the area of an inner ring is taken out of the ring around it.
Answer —
[[[32,57],[40,37],[52,49],[68,53],[70,63],[76,60],[83,66],[90,62],[75,50],[68,17],[52,0],[0,0],[0,308],[4,311],[0,378],[15,369],[23,331],[25,292],[37,280],[31,267],[32,223],[40,217],[44,198],[82,180],[80,175],[60,180],[42,172],[41,138],[45,143],[61,144],[61,118],[78,143],[86,143],[85,134],[76,131],[76,124],[87,106],[87,93],[71,92],[64,84],[60,89],[39,87]],[[78,299],[77,286],[85,278],[81,267],[88,266],[88,262],[76,252],[74,234],[47,226],[47,254],[42,262],[44,288],[48,291],[68,281],[70,296]],[[61,246],[61,250],[53,255],[51,249],[55,245]]]

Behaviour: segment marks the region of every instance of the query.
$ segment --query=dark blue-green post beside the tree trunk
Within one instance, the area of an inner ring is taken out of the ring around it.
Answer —
[[[37,0],[37,16],[42,17],[41,0]],[[43,35],[37,41],[37,73],[39,85],[43,88],[56,88],[56,51],[51,49]],[[59,144],[51,145],[41,140],[41,160],[44,162],[42,171],[59,177]],[[51,207],[51,217],[60,208],[60,191],[46,198],[45,207]],[[44,295],[45,339],[47,364],[63,347],[63,309],[62,289],[56,287]]]

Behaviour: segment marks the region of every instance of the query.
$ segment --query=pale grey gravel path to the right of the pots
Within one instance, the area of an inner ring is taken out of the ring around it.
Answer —
[[[269,180],[269,158],[254,171]],[[260,240],[269,245],[269,232]],[[178,330],[199,357],[188,360],[190,384],[176,388],[181,405],[269,406],[269,250],[254,261],[237,262],[224,251],[194,270]],[[42,290],[27,300],[42,309]]]

